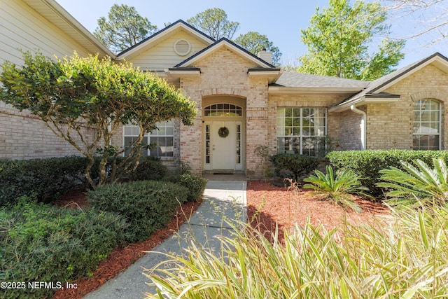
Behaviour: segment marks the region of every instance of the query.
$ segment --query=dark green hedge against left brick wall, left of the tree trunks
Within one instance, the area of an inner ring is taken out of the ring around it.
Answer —
[[[0,162],[0,206],[22,195],[52,202],[75,186],[86,183],[87,159],[64,157]]]

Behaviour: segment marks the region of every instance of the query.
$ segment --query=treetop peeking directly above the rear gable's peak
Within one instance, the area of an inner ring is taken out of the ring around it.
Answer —
[[[232,39],[239,29],[239,22],[230,22],[221,8],[209,8],[187,20],[188,24],[218,40]]]

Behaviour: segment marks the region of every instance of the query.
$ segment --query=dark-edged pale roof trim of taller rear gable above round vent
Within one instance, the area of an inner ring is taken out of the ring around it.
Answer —
[[[198,39],[199,41],[205,43],[206,45],[210,45],[215,42],[215,40],[212,39],[207,34],[200,32],[198,29],[189,25],[183,20],[178,20],[172,23],[171,25],[165,27],[164,29],[160,30],[159,32],[156,32],[155,34],[149,36],[143,41],[124,50],[122,53],[119,53],[117,55],[117,60],[122,59],[131,60],[133,57],[137,57],[138,55],[141,55],[141,53],[144,53],[145,51],[157,46],[159,43],[162,43],[166,39],[169,39],[170,36],[179,34],[179,32],[186,32],[186,34],[193,36],[195,39]]]

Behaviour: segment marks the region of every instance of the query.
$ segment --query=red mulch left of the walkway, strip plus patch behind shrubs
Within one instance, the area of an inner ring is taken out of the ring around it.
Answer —
[[[167,237],[179,230],[179,227],[193,214],[201,204],[198,202],[187,202],[182,204],[176,211],[172,221],[169,221],[166,228],[157,230],[153,233],[150,239],[145,242],[137,244],[129,244],[125,248],[115,249],[112,253],[99,263],[97,270],[93,272],[92,277],[78,279],[71,281],[77,285],[77,288],[59,289],[56,291],[55,299],[77,299],[83,298],[84,295],[90,293],[104,284],[109,279],[116,277],[120,272],[126,270],[141,256],[144,256],[144,251],[149,251],[155,246],[162,243]],[[57,201],[59,207],[83,208],[87,207],[87,196],[81,190],[73,190],[64,195]]]

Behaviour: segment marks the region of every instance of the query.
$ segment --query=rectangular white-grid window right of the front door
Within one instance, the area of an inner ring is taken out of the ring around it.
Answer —
[[[325,151],[326,109],[277,108],[277,152],[316,156]]]

